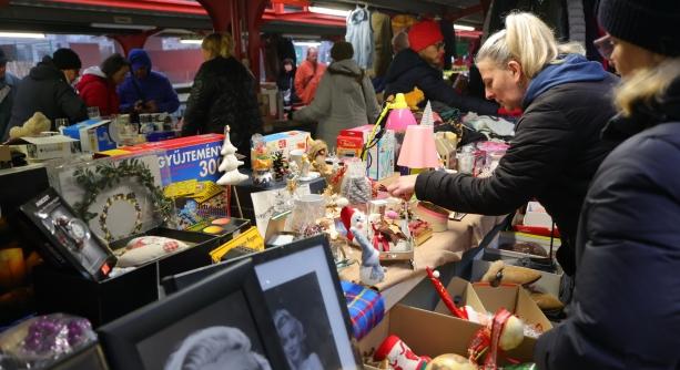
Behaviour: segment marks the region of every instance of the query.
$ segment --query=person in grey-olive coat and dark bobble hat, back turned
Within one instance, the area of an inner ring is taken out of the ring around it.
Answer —
[[[373,124],[380,107],[368,75],[352,59],[349,42],[338,41],[331,49],[333,63],[321,79],[312,104],[295,112],[295,120],[317,122],[316,138],[334,146],[341,130]]]

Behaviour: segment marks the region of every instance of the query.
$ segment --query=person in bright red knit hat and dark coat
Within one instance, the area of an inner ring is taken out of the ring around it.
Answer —
[[[498,104],[460,95],[444,82],[444,35],[439,24],[434,21],[414,24],[408,31],[408,44],[409,49],[397,53],[387,70],[385,96],[407,93],[418,88],[426,101],[437,101],[465,112],[498,113]]]

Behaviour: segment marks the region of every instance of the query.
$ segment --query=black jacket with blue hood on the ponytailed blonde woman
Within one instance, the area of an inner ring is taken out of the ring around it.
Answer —
[[[503,215],[536,197],[560,230],[557,258],[572,275],[581,204],[595,172],[617,144],[600,140],[615,115],[611,89],[617,81],[582,56],[547,66],[529,84],[524,115],[494,176],[426,172],[416,182],[418,199],[457,212]]]

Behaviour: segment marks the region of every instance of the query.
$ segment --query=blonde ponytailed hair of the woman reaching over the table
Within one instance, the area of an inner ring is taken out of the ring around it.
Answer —
[[[476,63],[490,60],[505,65],[514,60],[521,64],[525,75],[531,80],[546,64],[557,64],[559,54],[585,54],[577,42],[560,44],[552,30],[538,17],[528,12],[510,13],[505,19],[505,30],[491,34],[481,45]]]

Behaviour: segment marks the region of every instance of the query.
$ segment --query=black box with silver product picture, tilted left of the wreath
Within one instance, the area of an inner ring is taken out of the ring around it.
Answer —
[[[28,224],[40,230],[37,243],[54,265],[70,266],[95,281],[109,276],[115,256],[57,191],[50,187],[19,208]]]

